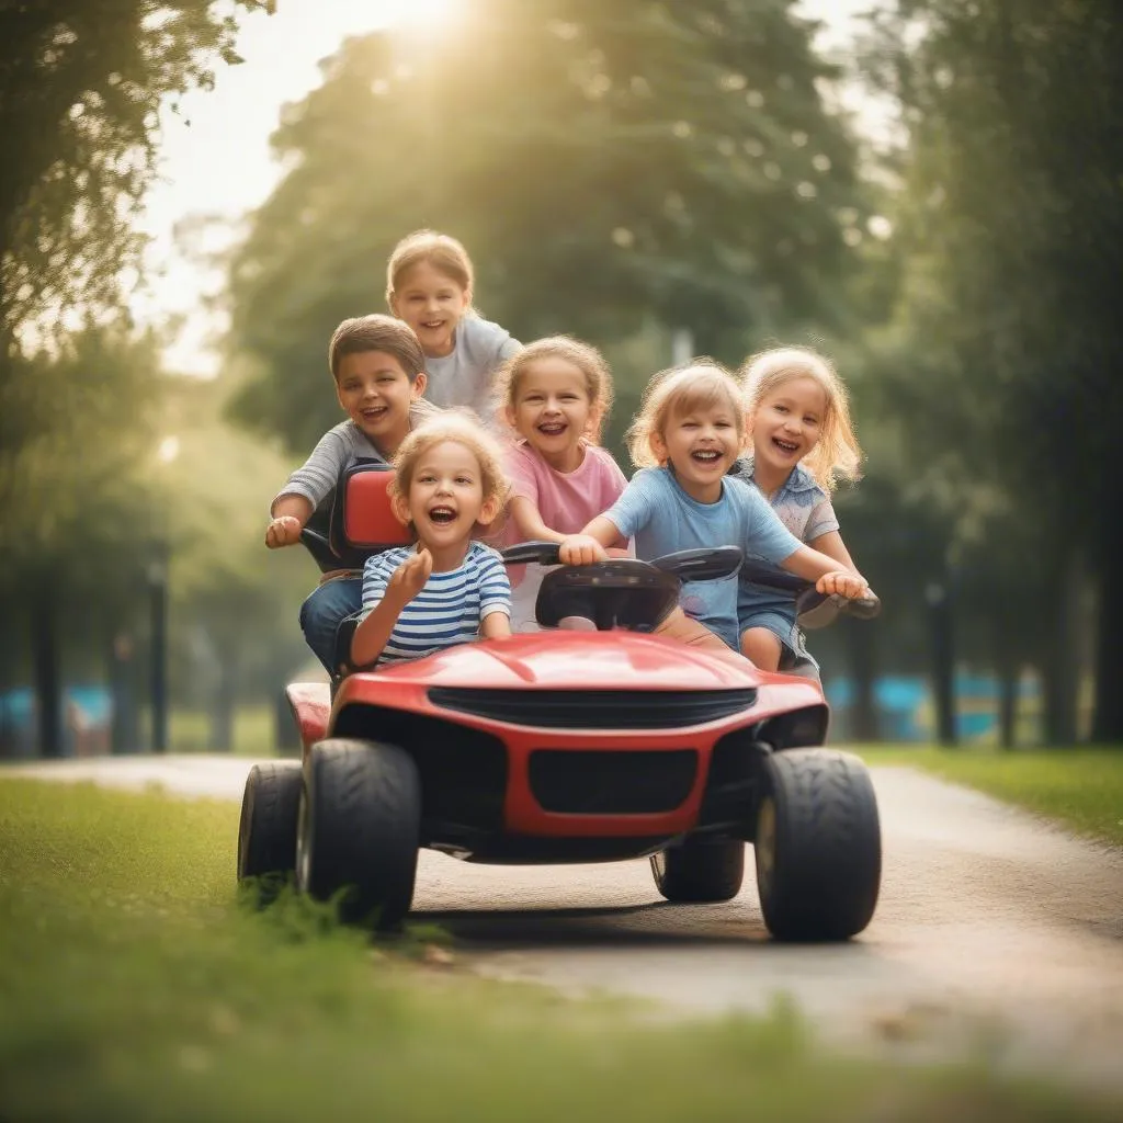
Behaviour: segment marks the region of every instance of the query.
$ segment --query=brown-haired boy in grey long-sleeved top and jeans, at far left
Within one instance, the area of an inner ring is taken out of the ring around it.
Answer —
[[[310,521],[326,532],[339,473],[362,459],[389,462],[413,426],[439,412],[421,399],[424,355],[417,336],[401,320],[390,316],[344,320],[331,336],[328,365],[348,420],[320,438],[273,500],[265,531],[270,549],[299,542]],[[340,569],[325,574],[301,605],[304,639],[329,674],[337,669],[336,629],[362,604],[362,574]]]

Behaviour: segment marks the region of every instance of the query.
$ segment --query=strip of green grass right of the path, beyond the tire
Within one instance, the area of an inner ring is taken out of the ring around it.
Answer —
[[[1123,750],[858,747],[868,764],[909,764],[1072,830],[1123,846]]]

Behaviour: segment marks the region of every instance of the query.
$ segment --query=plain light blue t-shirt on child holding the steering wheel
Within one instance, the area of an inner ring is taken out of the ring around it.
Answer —
[[[667,468],[641,468],[605,518],[621,537],[636,539],[636,557],[646,562],[676,550],[738,546],[746,555],[779,563],[801,545],[755,487],[728,476],[716,503],[700,503]],[[736,575],[685,583],[681,603],[687,615],[738,650]]]

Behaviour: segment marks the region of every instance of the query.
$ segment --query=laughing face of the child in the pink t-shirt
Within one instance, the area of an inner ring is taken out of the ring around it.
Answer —
[[[508,421],[518,433],[562,471],[575,454],[579,463],[581,438],[594,420],[584,372],[556,356],[537,359],[522,372],[514,408],[508,409]]]

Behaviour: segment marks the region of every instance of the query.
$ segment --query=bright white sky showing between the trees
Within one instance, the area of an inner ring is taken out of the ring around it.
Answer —
[[[844,53],[857,15],[876,2],[802,0],[796,10],[824,22],[820,51]],[[208,311],[207,299],[222,279],[198,252],[228,245],[237,220],[268,197],[281,174],[270,135],[282,107],[319,85],[320,61],[349,35],[410,25],[424,34],[448,30],[471,19],[471,8],[472,0],[279,0],[273,16],[243,16],[236,49],[245,63],[221,67],[213,90],[195,91],[182,99],[179,113],[166,109],[162,116],[158,175],[140,223],[152,238],[147,286],[133,308],[141,322],[180,322],[166,354],[170,369],[218,372],[211,343],[223,321]],[[184,252],[176,227],[195,216],[219,221],[197,227],[188,239],[194,250]]]

